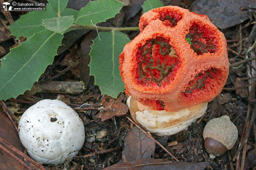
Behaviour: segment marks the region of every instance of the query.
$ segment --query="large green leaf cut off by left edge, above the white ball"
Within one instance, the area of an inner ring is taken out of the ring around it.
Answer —
[[[1,59],[0,100],[16,98],[30,89],[57,55],[63,35],[49,30],[36,33]]]

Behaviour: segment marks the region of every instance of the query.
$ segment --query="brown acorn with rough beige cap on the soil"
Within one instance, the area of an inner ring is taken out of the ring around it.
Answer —
[[[223,155],[236,143],[238,131],[226,115],[210,120],[204,127],[204,148],[210,159]]]

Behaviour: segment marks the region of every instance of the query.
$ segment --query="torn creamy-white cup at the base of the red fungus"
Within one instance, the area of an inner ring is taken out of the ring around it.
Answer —
[[[157,136],[170,136],[186,129],[192,122],[203,116],[207,109],[207,103],[204,102],[179,112],[148,109],[141,111],[137,101],[132,96],[127,99],[127,105],[135,122],[140,123],[149,132],[155,133]]]

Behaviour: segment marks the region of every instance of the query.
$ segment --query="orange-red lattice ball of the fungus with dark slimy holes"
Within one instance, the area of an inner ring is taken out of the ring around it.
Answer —
[[[228,78],[227,42],[206,15],[164,6],[144,13],[139,26],[140,34],[119,56],[125,92],[138,106],[179,111],[221,92]]]

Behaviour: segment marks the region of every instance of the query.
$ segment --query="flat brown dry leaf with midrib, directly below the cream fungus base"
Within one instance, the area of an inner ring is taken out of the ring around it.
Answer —
[[[129,162],[142,158],[154,159],[155,147],[156,143],[135,126],[125,137],[123,161]]]

